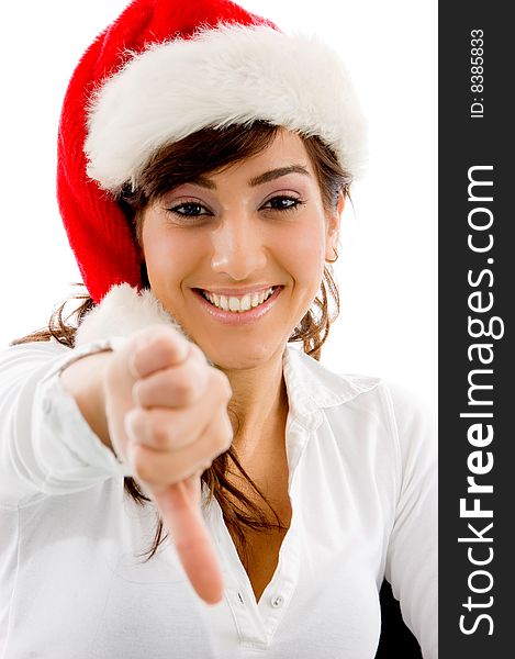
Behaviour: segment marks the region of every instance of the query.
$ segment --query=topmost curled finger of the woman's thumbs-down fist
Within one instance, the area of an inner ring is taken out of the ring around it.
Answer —
[[[144,378],[163,368],[182,364],[190,351],[190,342],[172,327],[155,327],[153,334],[142,337],[128,362],[137,378]]]

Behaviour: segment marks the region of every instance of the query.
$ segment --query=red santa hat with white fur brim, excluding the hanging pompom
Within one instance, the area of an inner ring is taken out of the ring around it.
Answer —
[[[99,302],[141,286],[116,196],[155,152],[204,127],[256,120],[317,135],[356,177],[365,121],[339,57],[228,0],[134,0],[92,43],[59,125],[57,197],[83,282]]]

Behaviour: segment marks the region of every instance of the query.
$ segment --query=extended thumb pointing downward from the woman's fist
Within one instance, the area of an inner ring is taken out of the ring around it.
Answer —
[[[154,495],[191,585],[208,604],[223,597],[222,570],[200,507],[183,482]]]

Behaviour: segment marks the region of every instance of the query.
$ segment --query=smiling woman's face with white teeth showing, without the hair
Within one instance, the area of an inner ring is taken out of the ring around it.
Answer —
[[[173,188],[143,215],[155,295],[220,368],[282,355],[333,258],[328,214],[302,139],[281,131],[259,155]]]

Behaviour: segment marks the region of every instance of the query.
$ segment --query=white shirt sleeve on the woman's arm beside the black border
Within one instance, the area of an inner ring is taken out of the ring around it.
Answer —
[[[438,491],[435,414],[413,394],[388,386],[401,460],[385,577],[424,659],[438,657]]]

